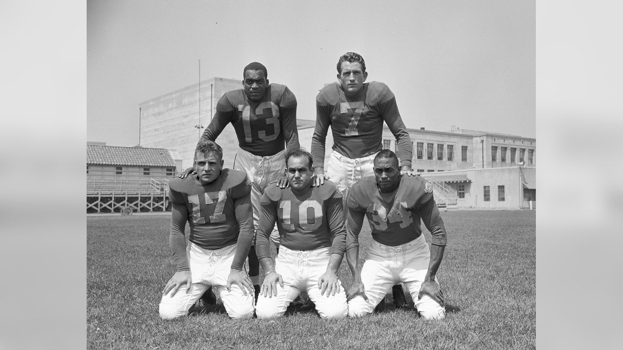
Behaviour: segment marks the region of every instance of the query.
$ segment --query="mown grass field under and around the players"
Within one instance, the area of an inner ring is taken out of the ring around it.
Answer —
[[[449,239],[437,273],[447,310],[441,321],[395,310],[391,295],[361,319],[324,321],[313,311],[289,310],[280,319],[234,321],[219,300],[163,321],[160,292],[174,272],[169,216],[87,217],[88,348],[535,348],[535,211],[442,211],[442,217]],[[366,227],[362,256],[370,239]],[[346,261],[338,276],[350,285]]]

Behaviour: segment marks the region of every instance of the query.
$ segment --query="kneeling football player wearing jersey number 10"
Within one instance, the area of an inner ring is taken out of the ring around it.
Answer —
[[[307,291],[321,318],[348,315],[346,294],[336,275],[346,239],[342,194],[331,181],[311,186],[312,164],[307,151],[288,151],[290,187],[270,186],[262,196],[256,248],[266,275],[255,307],[258,318],[282,316],[301,291]],[[269,245],[275,220],[281,236],[276,263]]]

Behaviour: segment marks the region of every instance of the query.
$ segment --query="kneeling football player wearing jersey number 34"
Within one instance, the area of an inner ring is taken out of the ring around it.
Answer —
[[[348,315],[372,313],[399,281],[407,286],[423,318],[444,318],[444,293],[436,276],[444,258],[446,231],[432,184],[419,176],[401,176],[396,154],[383,149],[374,157],[374,177],[354,184],[346,202],[346,260],[353,273],[353,284],[346,291]],[[364,216],[373,239],[359,273],[358,236]],[[432,235],[430,249],[420,220]]]

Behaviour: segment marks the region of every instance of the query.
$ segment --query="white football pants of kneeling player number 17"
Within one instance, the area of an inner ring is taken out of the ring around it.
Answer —
[[[160,317],[173,319],[186,316],[193,304],[201,298],[204,291],[211,286],[216,286],[221,300],[227,311],[227,315],[234,319],[248,319],[254,313],[254,295],[247,290],[247,295],[242,293],[239,286],[232,285],[231,291],[227,291],[227,277],[234,261],[236,245],[218,250],[207,250],[193,242],[186,246],[191,277],[193,281],[189,293],[186,286],[179,288],[178,292],[171,297],[173,291],[162,296],[159,305]]]

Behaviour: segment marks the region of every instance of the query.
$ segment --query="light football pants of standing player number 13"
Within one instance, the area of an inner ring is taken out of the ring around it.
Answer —
[[[259,213],[262,210],[260,199],[264,189],[270,182],[278,181],[285,172],[285,149],[272,156],[256,156],[240,149],[234,158],[234,169],[247,173],[247,179],[251,181],[251,205],[253,206],[253,226],[257,234],[259,225]],[[275,186],[272,184],[271,186]],[[277,227],[270,234],[270,239],[279,244],[279,232]],[[255,244],[255,240],[254,240]]]

